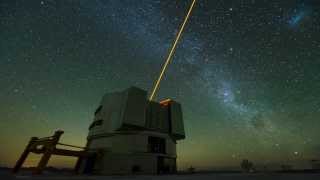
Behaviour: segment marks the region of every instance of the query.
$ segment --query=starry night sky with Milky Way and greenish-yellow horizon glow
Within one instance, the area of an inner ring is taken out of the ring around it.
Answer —
[[[55,129],[85,145],[104,93],[150,91],[190,3],[1,0],[0,165]],[[179,168],[320,159],[319,9],[318,0],[197,1],[156,98],[183,107]]]

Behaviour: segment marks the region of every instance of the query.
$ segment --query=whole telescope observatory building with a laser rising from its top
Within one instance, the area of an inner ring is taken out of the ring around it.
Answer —
[[[181,105],[170,99],[149,101],[131,87],[107,93],[89,127],[80,172],[163,174],[176,172],[176,144],[185,138]]]

